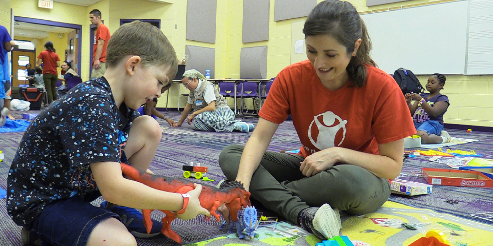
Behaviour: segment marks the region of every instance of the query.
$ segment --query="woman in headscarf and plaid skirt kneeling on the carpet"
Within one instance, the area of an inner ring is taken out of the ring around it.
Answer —
[[[195,69],[185,71],[181,83],[190,90],[190,95],[180,120],[174,126],[181,126],[185,119],[192,124],[195,118],[193,129],[196,131],[253,131],[253,124],[235,121],[235,114],[226,99],[202,73]],[[192,108],[193,113],[188,116]]]

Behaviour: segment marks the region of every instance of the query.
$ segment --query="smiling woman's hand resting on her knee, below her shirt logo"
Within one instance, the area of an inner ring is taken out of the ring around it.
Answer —
[[[342,159],[344,153],[344,148],[332,147],[315,154],[311,154],[303,160],[300,166],[300,171],[303,175],[310,177],[317,173],[326,171],[329,167],[333,166],[335,163]]]

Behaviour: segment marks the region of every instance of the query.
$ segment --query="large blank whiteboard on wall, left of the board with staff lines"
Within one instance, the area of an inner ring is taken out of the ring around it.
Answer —
[[[459,0],[362,14],[371,57],[392,73],[465,74],[468,1]]]

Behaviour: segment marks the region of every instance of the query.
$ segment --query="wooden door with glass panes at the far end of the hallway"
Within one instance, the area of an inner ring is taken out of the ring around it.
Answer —
[[[13,50],[12,51],[12,86],[28,84],[26,81],[26,64],[31,63],[35,67],[34,50]]]

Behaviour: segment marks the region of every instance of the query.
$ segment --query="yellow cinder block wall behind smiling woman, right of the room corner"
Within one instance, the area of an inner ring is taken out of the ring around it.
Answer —
[[[317,0],[317,2],[320,1]],[[436,0],[410,0],[373,7],[367,7],[366,0],[349,1],[358,12],[363,12]],[[269,40],[244,44],[242,43],[243,0],[228,1],[226,77],[239,77],[240,52],[241,48],[244,47],[267,45],[267,78],[275,77],[290,64],[291,49],[294,49],[291,47],[291,24],[306,20],[306,17],[276,22],[274,21],[274,3],[274,0],[270,1]],[[376,62],[378,63],[378,61]],[[439,73],[440,71],[436,72]],[[419,76],[423,85],[427,78],[428,76]],[[493,126],[493,76],[448,75],[445,88],[443,93],[449,96],[451,102],[444,117],[445,123]],[[252,107],[251,103],[248,104],[248,107]]]

